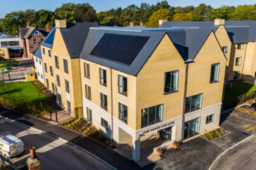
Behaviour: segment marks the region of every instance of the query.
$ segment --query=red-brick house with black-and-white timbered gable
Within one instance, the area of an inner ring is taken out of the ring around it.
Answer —
[[[30,27],[19,28],[20,46],[23,47],[23,57],[33,59],[33,53],[40,47],[41,42],[51,32],[52,26],[46,28]]]

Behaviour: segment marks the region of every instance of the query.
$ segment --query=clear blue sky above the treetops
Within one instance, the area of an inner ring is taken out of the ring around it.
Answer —
[[[74,2],[76,4],[82,4],[88,2],[94,7],[96,12],[101,12],[110,9],[116,9],[117,7],[125,8],[127,5],[135,4],[140,5],[141,2],[146,2],[148,4],[157,4],[162,0],[0,0],[1,9],[0,9],[0,18],[4,18],[7,13],[26,10],[26,9],[46,9],[54,11],[57,7],[60,7],[63,3]],[[197,6],[201,3],[212,5],[212,7],[220,7],[221,5],[249,5],[255,4],[255,0],[167,0],[169,5],[174,7],[185,7],[188,5]]]

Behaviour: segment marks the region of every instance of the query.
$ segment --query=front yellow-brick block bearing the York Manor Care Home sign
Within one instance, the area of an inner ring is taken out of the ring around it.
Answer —
[[[55,42],[54,42],[55,43]],[[212,30],[93,27],[80,53],[84,117],[118,144],[219,126],[227,58]]]

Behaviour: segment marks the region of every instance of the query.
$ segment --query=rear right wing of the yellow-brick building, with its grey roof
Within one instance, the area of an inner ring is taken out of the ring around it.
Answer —
[[[160,22],[159,27],[194,27],[213,30],[227,57],[225,81],[255,80],[256,21]]]

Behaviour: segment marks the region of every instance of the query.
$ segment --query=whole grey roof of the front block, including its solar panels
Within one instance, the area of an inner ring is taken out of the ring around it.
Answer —
[[[80,58],[137,75],[167,33],[184,61],[193,61],[212,30],[91,28]],[[127,54],[128,53],[128,54]]]

